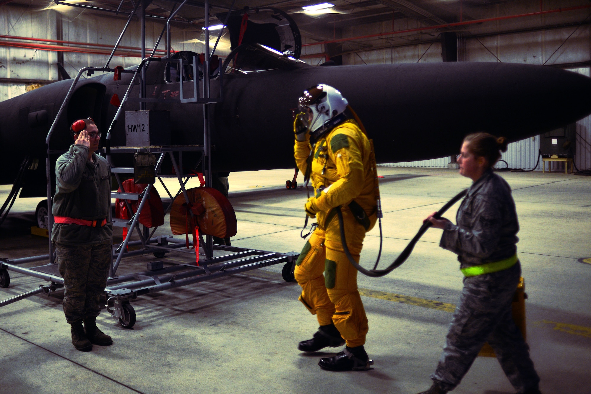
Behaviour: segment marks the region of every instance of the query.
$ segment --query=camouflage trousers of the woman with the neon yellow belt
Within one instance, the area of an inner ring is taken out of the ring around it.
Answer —
[[[511,316],[511,301],[520,275],[517,262],[508,270],[464,278],[446,346],[431,375],[442,389],[450,391],[460,384],[487,341],[518,393],[538,387],[540,377],[530,359],[530,348]]]

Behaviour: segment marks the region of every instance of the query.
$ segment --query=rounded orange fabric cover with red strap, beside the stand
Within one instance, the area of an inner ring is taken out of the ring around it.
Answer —
[[[194,234],[197,226],[202,234],[213,237],[230,238],[236,235],[236,214],[222,193],[202,186],[187,189],[187,196],[189,206],[181,193],[174,199],[170,210],[170,229],[174,235]],[[193,211],[197,223],[191,221],[189,210]]]

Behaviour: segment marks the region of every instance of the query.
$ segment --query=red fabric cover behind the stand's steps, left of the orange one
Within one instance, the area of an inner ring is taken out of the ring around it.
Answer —
[[[126,193],[141,193],[147,186],[145,183],[136,184],[133,179],[124,180],[123,182],[123,188]],[[119,188],[119,192],[122,192],[121,188]],[[129,202],[135,214],[138,211],[140,201],[128,200],[127,202]],[[132,215],[128,212],[124,199],[115,199],[116,218],[129,220]],[[152,187],[150,189],[150,198],[144,203],[144,208],[142,208],[142,212],[139,214],[138,221],[139,224],[149,228],[164,224],[164,207],[162,206],[162,200],[156,188]]]

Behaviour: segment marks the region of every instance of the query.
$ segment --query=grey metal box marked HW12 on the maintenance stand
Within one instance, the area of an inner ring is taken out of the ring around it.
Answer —
[[[170,112],[125,111],[125,142],[127,146],[170,145]]]

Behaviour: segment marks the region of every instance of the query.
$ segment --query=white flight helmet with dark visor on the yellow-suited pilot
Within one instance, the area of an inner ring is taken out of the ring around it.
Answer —
[[[325,132],[336,126],[333,124],[331,127],[327,123],[345,112],[348,105],[349,101],[340,94],[340,91],[325,84],[318,84],[304,90],[298,100],[300,111],[306,112],[309,108],[312,112],[312,119],[307,124],[308,130],[312,134],[319,134],[317,132],[322,132],[325,126]]]

